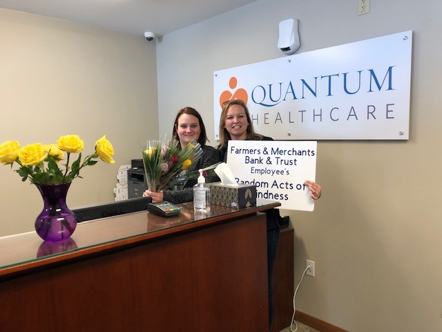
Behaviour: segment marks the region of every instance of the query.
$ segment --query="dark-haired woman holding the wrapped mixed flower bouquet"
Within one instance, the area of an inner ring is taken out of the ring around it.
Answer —
[[[200,113],[192,107],[184,107],[178,111],[173,124],[172,138],[179,142],[181,148],[189,144],[189,142],[198,142],[202,147],[202,156],[195,164],[189,166],[186,172],[198,171],[216,164],[220,161],[218,150],[210,145],[206,145],[208,141],[206,135],[206,127]],[[206,183],[220,181],[218,176],[206,177]],[[163,190],[160,192],[151,192],[146,190],[143,196],[151,196],[153,203],[168,201],[174,204],[193,201],[193,185],[197,183],[196,179],[186,182],[182,190]]]

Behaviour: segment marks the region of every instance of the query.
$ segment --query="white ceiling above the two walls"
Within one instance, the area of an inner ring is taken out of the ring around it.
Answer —
[[[0,8],[108,30],[165,35],[256,0],[0,0]]]

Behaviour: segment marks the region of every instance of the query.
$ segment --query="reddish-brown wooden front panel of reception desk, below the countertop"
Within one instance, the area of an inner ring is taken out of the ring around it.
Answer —
[[[267,331],[265,214],[0,283],[2,331]]]

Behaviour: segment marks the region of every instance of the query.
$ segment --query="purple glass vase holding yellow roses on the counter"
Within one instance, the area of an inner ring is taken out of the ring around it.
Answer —
[[[44,241],[69,239],[77,227],[74,212],[66,206],[70,183],[36,185],[43,198],[43,211],[35,219],[35,231]]]

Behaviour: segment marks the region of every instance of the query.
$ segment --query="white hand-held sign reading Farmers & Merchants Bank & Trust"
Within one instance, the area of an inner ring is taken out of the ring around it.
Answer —
[[[313,211],[306,180],[316,178],[316,141],[229,140],[227,164],[238,183],[256,185],[258,199],[285,210]]]

